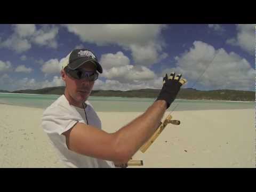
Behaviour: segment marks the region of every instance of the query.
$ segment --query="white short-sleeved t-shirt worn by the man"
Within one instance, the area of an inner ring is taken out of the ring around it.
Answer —
[[[89,101],[85,102],[88,123],[101,129],[101,122]],[[42,117],[43,130],[51,144],[67,167],[115,167],[113,162],[75,153],[68,149],[66,137],[62,133],[76,123],[86,123],[84,109],[70,105],[65,95],[61,95],[51,106],[47,107]]]

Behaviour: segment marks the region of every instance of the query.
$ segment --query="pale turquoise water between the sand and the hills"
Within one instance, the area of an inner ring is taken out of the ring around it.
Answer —
[[[60,95],[0,93],[0,104],[35,107],[45,109]],[[90,97],[96,111],[143,112],[155,99]],[[255,109],[255,102],[230,102],[209,100],[175,100],[168,111],[207,109]]]

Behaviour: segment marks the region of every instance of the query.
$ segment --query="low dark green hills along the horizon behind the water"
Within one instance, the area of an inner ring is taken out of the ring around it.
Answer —
[[[29,94],[64,94],[65,87],[47,87],[38,90],[18,90],[10,93],[29,93]],[[4,91],[4,90],[0,90]],[[8,91],[5,91],[6,93]],[[140,89],[130,91],[113,91],[113,90],[95,90],[91,96],[95,97],[136,97],[136,98],[156,98],[160,90],[157,89]],[[181,89],[177,99],[189,100],[230,100],[230,101],[255,101],[254,91],[236,91],[236,90],[213,90],[199,91],[196,89]]]

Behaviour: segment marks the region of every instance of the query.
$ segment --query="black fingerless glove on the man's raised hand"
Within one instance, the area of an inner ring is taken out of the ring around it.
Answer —
[[[171,74],[172,76],[172,74]],[[178,80],[174,79],[175,77],[175,73],[173,75],[173,77],[171,77],[170,79],[168,79],[167,74],[165,74],[165,77],[163,78],[163,81],[165,81],[161,92],[159,93],[157,100],[165,100],[167,103],[167,107],[166,109],[168,109],[171,105],[171,103],[174,101],[174,99],[176,98],[178,92],[180,91],[180,87],[181,87],[181,83]]]

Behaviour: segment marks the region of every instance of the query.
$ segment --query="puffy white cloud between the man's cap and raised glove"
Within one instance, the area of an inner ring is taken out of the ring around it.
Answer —
[[[103,67],[103,74],[100,76],[107,80],[102,82],[98,79],[94,90],[159,89],[159,79],[154,72],[145,66],[130,65],[130,59],[121,51],[103,54],[100,63]]]

